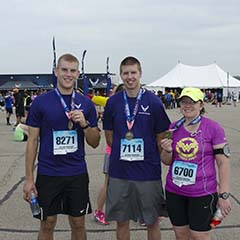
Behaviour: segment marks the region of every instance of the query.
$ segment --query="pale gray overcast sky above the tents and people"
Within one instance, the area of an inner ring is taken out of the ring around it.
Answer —
[[[52,38],[57,56],[70,52],[86,72],[119,72],[133,55],[143,83],[153,82],[180,60],[214,61],[240,75],[239,0],[8,0],[0,8],[0,73],[49,73]]]

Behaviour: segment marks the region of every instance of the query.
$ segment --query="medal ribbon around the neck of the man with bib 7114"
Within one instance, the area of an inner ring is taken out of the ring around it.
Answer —
[[[126,94],[126,91],[123,91],[123,97],[124,97],[124,102],[125,102],[126,122],[127,122],[127,127],[128,127],[129,131],[131,131],[131,129],[133,127],[133,124],[134,124],[134,121],[135,121],[135,118],[136,118],[136,115],[138,112],[139,102],[142,98],[142,94],[143,94],[143,91],[140,88],[138,95],[137,95],[137,100],[136,100],[135,106],[133,108],[133,114],[131,116],[130,108],[129,108],[129,104],[128,104],[128,100],[127,100],[127,94]]]

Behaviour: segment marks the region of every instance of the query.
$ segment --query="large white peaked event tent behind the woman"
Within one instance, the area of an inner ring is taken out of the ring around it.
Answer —
[[[189,66],[178,63],[170,72],[145,87],[151,90],[163,90],[166,87],[222,88],[223,95],[226,96],[227,90],[240,90],[240,81],[224,72],[216,63],[206,66]]]

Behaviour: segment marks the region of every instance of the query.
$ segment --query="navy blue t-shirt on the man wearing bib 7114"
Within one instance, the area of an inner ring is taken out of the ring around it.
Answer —
[[[130,112],[136,98],[129,98]],[[143,139],[144,160],[120,160],[120,142],[128,131],[126,124],[125,102],[123,91],[113,95],[107,101],[104,111],[104,130],[113,131],[112,151],[110,155],[109,175],[115,178],[151,181],[161,178],[160,154],[157,147],[156,134],[168,129],[169,118],[161,100],[153,93],[144,90],[138,106],[138,113],[132,128],[134,138]]]

